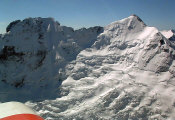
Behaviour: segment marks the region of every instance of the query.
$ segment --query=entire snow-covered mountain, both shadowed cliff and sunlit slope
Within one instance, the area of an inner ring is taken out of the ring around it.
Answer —
[[[76,31],[51,18],[7,28],[1,101],[28,100],[46,120],[175,119],[174,43],[138,16]]]

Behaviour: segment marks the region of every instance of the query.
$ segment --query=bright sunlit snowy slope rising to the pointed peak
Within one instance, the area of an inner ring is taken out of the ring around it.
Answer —
[[[156,28],[132,15],[82,48],[62,68],[60,96],[26,105],[46,120],[175,119],[174,44]]]

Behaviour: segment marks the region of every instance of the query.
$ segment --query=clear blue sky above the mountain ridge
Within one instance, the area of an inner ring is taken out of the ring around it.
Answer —
[[[0,0],[0,33],[14,20],[53,17],[75,29],[138,15],[159,30],[175,29],[175,0]]]

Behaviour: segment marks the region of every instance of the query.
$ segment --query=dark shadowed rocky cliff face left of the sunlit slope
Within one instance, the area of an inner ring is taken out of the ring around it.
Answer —
[[[81,50],[90,47],[101,32],[102,27],[74,30],[60,26],[52,18],[10,23],[0,38],[0,89],[7,95],[1,99],[37,100],[38,94],[39,99],[56,97],[58,91],[53,94],[52,90],[64,78],[62,69]]]

